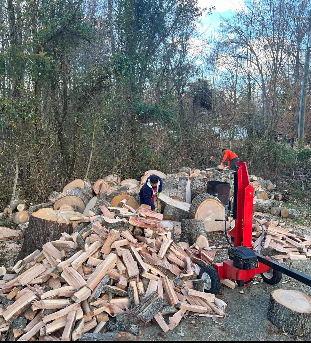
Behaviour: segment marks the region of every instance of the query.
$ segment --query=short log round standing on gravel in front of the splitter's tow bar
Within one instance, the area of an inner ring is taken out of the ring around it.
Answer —
[[[307,335],[311,332],[311,297],[290,289],[275,289],[269,300],[268,319],[285,332]]]

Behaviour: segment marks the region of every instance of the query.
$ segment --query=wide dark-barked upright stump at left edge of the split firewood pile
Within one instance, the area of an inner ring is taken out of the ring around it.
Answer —
[[[24,244],[17,260],[22,260],[34,250],[42,250],[43,244],[58,240],[63,232],[73,233],[73,228],[79,221],[70,221],[71,217],[82,216],[79,212],[54,211],[51,208],[41,209],[32,213],[29,219]]]

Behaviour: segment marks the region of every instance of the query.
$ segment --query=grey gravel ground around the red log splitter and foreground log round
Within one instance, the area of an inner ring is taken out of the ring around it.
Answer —
[[[293,226],[288,223],[285,227]],[[296,225],[294,232],[310,235],[311,228]],[[217,247],[226,244],[224,234],[210,234],[209,240],[211,245]],[[220,262],[226,258],[228,258],[227,250],[219,250],[214,261]],[[311,259],[292,262],[293,269],[311,275]],[[285,260],[285,263],[289,265],[289,260]],[[284,334],[283,330],[275,327],[267,319],[269,297],[271,292],[277,288],[293,289],[311,295],[309,286],[287,275],[283,275],[281,282],[277,285],[257,283],[235,289],[222,285],[218,297],[228,304],[226,318],[215,321],[212,318],[195,317],[190,312],[174,330],[166,333],[161,330],[158,324],[149,323],[147,327],[141,326],[140,341],[310,341],[311,334],[303,337]],[[241,290],[244,292],[243,294],[239,293]],[[168,324],[169,316],[165,317]]]

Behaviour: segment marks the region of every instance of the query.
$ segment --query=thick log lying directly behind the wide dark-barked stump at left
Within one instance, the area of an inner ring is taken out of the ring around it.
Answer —
[[[85,206],[91,200],[90,193],[83,188],[69,188],[63,193],[60,193],[57,200],[54,202],[54,210],[58,210],[61,205],[68,204],[77,206],[78,211],[83,213]]]

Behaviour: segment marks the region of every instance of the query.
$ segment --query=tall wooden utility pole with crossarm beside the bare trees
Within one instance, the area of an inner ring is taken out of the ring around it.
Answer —
[[[307,46],[306,56],[304,58],[303,78],[302,78],[300,107],[299,107],[299,122],[298,122],[298,145],[299,145],[300,149],[303,149],[303,147],[304,147],[304,119],[306,116],[306,99],[307,99],[308,78],[309,78],[309,70],[310,70],[311,9],[310,9],[309,17],[298,17],[296,15],[292,15],[291,17],[293,19],[309,20],[308,46]]]

